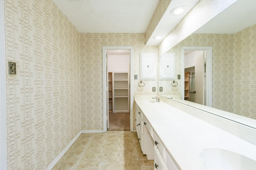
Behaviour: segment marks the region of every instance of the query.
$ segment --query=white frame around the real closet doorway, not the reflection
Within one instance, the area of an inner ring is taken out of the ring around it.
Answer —
[[[130,50],[130,131],[133,132],[133,47],[132,46],[103,46],[103,132],[107,131],[107,61],[106,61],[106,51],[109,50]]]

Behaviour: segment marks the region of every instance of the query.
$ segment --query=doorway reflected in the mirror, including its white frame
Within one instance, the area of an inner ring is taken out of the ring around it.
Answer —
[[[212,107],[212,47],[182,47],[182,75],[182,99]]]

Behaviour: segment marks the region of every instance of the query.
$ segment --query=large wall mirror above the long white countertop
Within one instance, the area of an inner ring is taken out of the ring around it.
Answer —
[[[159,80],[159,86],[166,89],[159,92],[160,96],[180,95],[181,99],[193,100],[195,95],[196,68],[195,65],[184,66],[186,60],[192,56],[202,56],[200,64],[202,74],[200,80],[205,82],[202,87],[202,98],[206,105],[207,88],[206,72],[209,66],[206,61],[206,51],[195,49],[184,49],[184,47],[212,47],[212,107],[232,113],[249,117],[252,120],[251,127],[256,128],[256,1],[238,0],[215,18],[203,25],[192,35],[181,41],[167,53],[175,53],[176,76],[181,74],[178,87],[172,87],[171,81]],[[198,52],[198,53],[197,53]],[[200,53],[200,54],[199,54]],[[191,64],[192,58],[187,61]],[[193,61],[195,63],[195,61]],[[193,70],[194,69],[194,70]],[[189,72],[190,75],[186,75]],[[198,74],[199,75],[199,74]],[[185,80],[188,76],[188,80]],[[188,94],[186,82],[189,81]],[[193,102],[193,101],[192,101]],[[209,109],[210,110],[210,109]],[[209,111],[210,112],[210,111]],[[230,118],[232,119],[232,118]],[[247,119],[248,120],[248,119]]]

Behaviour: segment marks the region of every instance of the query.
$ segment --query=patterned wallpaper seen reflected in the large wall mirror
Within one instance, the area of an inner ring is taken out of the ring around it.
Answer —
[[[256,119],[255,36],[256,25],[236,34],[192,34],[168,52],[176,54],[178,74],[182,47],[212,47],[212,106]],[[170,86],[165,83],[160,81],[164,88]],[[170,93],[181,94],[181,83]]]

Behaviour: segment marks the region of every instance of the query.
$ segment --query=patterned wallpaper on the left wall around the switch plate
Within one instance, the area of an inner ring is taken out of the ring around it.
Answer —
[[[46,169],[81,131],[80,33],[51,0],[4,10],[8,169]]]

